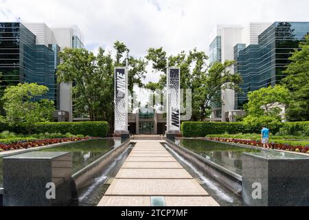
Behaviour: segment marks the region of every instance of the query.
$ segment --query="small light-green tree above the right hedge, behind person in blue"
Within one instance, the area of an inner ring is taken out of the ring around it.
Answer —
[[[276,85],[249,92],[248,100],[249,102],[244,107],[247,110],[244,122],[269,124],[281,122],[280,112],[282,110],[278,104],[288,104],[290,93],[286,87]]]

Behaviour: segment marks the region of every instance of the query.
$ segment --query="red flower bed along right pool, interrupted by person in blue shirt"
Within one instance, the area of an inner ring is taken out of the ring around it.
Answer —
[[[217,142],[231,142],[235,144],[246,144],[251,146],[260,146],[262,147],[263,144],[260,141],[255,140],[241,140],[241,139],[231,139],[231,138],[222,138],[222,137],[210,137],[209,140],[215,140]],[[309,146],[292,146],[290,144],[274,144],[269,143],[271,148],[284,150],[284,151],[295,151],[301,153],[309,153]]]

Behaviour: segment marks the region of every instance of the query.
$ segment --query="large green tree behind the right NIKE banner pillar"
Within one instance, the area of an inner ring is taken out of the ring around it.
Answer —
[[[232,74],[230,69],[233,61],[225,63],[214,63],[211,67],[207,66],[205,52],[198,52],[196,49],[188,53],[181,52],[176,56],[167,58],[163,48],[150,48],[146,56],[148,61],[152,62],[152,68],[161,72],[159,86],[166,85],[166,66],[181,68],[181,88],[192,89],[192,119],[204,120],[209,116],[212,102],[222,102],[221,98],[216,96],[220,89],[235,89],[239,91],[239,83],[242,78],[240,74]]]

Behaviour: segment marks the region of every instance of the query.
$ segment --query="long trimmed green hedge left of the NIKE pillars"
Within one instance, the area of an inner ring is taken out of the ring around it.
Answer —
[[[11,126],[6,123],[0,123],[0,132],[2,131],[27,134],[25,127]],[[36,123],[32,129],[32,133],[71,133],[91,137],[106,137],[108,131],[108,122],[46,122]]]

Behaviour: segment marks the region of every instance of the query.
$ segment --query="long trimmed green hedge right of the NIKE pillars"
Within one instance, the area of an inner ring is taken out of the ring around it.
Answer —
[[[309,122],[286,122],[269,124],[271,133],[278,131],[290,135],[309,135]],[[205,137],[222,133],[260,133],[262,124],[243,124],[242,122],[183,122],[181,134],[183,137]]]

